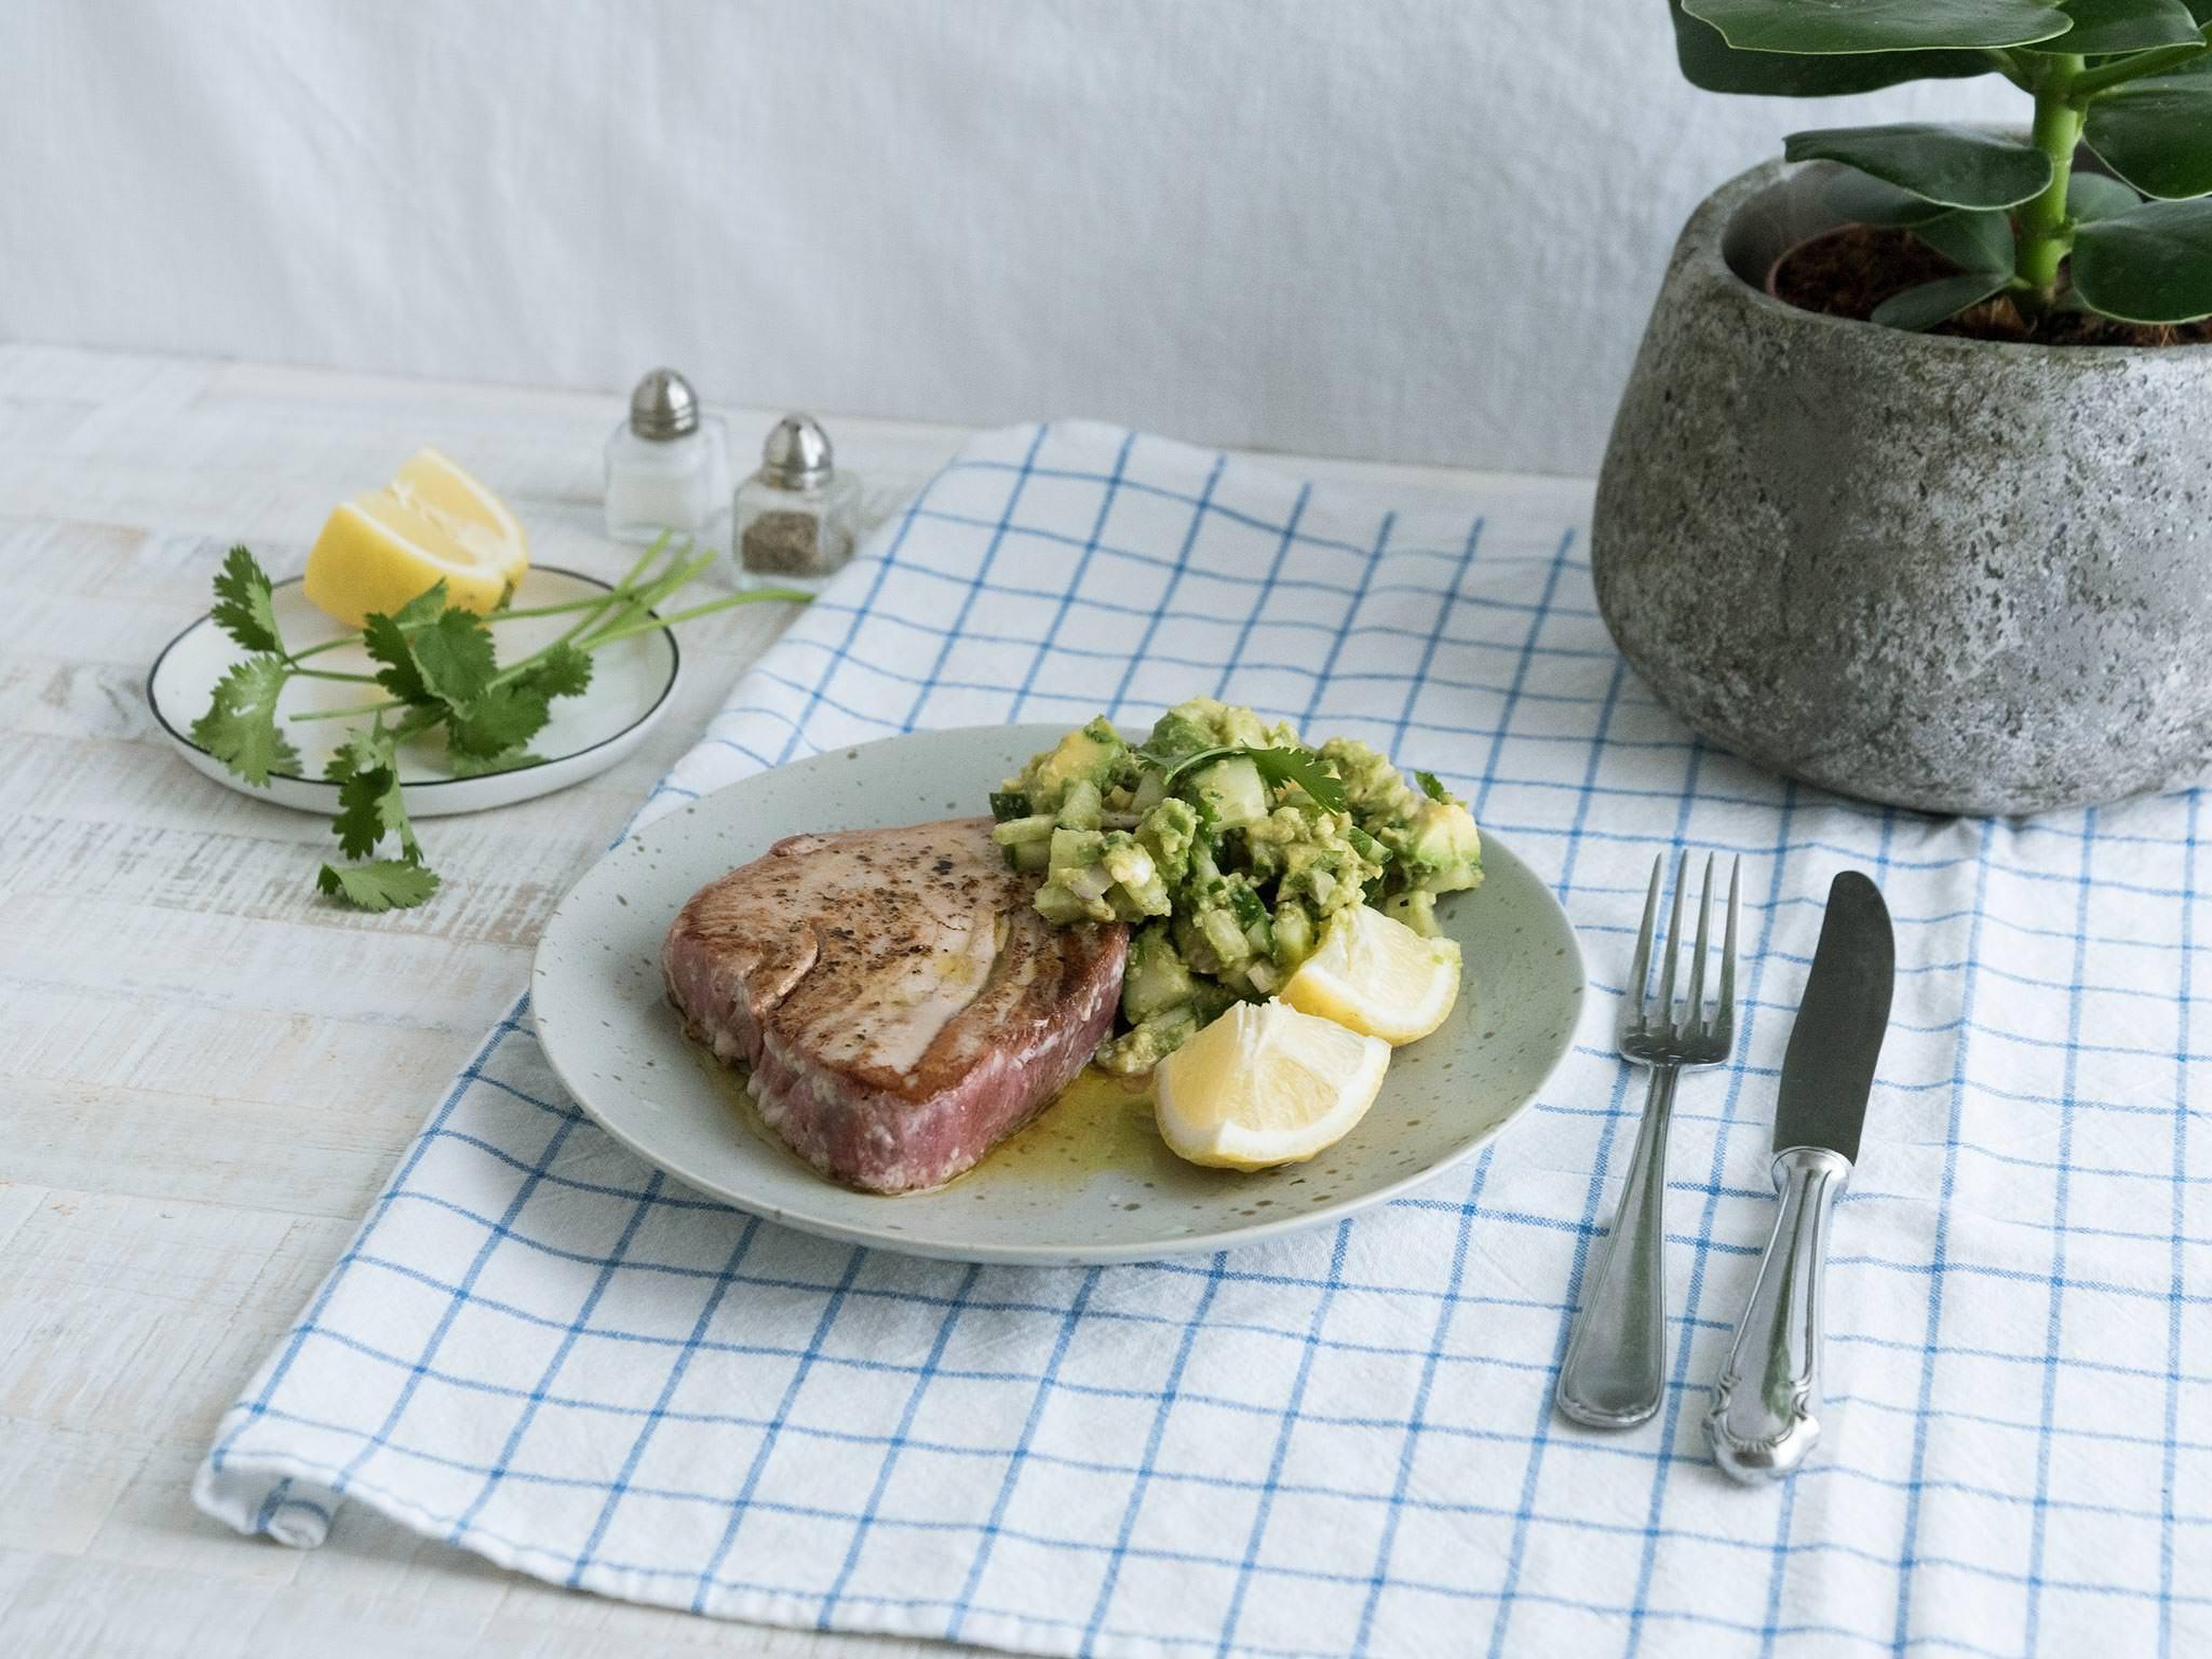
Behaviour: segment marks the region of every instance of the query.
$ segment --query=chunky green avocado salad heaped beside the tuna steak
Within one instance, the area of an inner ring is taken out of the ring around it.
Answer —
[[[993,838],[1042,872],[1046,920],[1130,922],[1121,1022],[1097,1053],[1137,1075],[1234,1002],[1276,993],[1340,909],[1433,936],[1438,894],[1482,880],[1467,803],[1347,737],[1192,697],[1130,745],[1106,717],[991,796]]]

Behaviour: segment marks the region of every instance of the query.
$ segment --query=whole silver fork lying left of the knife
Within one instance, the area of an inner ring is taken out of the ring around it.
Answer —
[[[1659,1409],[1666,1394],[1666,1130],[1674,1110],[1674,1079],[1686,1068],[1719,1066],[1736,1042],[1736,891],[1743,860],[1728,874],[1728,929],[1721,940],[1721,987],[1705,1006],[1705,958],[1712,942],[1712,856],[1697,905],[1697,949],[1690,956],[1690,995],[1674,1002],[1674,960],[1681,956],[1681,891],[1690,854],[1674,865],[1674,907],[1668,914],[1659,969],[1659,1002],[1650,1000],[1652,925],[1659,920],[1659,876],[1666,856],[1652,858],[1644,898],[1644,927],[1621,995],[1621,1060],[1650,1066],[1650,1093],[1628,1166],[1621,1208],[1613,1214],[1597,1272],[1582,1281],[1582,1312],[1559,1369],[1559,1409],[1597,1429],[1626,1429]]]

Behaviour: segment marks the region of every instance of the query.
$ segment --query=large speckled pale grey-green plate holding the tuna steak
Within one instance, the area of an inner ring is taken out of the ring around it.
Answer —
[[[936,1192],[823,1181],[684,1037],[661,991],[661,936],[692,891],[781,836],[978,812],[1057,737],[896,737],[763,772],[639,830],[568,891],[538,945],[531,1000],[560,1079],[617,1141],[739,1210],[916,1256],[1068,1265],[1210,1252],[1380,1203],[1498,1135],[1566,1055],[1584,991],[1575,931],[1528,865],[1484,836],[1482,887],[1440,905],[1467,956],[1460,1004],[1391,1057],[1367,1119],[1312,1164],[1194,1168],[1161,1146],[1141,1095],[1086,1079]]]

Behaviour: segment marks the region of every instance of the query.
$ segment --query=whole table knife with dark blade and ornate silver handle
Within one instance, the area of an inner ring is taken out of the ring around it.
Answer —
[[[1889,907],[1871,880],[1847,869],[1827,889],[1820,947],[1783,1055],[1774,1106],[1783,1208],[1705,1413],[1712,1458],[1736,1480],[1787,1475],[1820,1438],[1827,1219],[1858,1159],[1893,978]]]

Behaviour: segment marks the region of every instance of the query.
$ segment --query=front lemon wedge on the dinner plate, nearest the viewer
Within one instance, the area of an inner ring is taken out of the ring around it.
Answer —
[[[1352,1133],[1387,1068],[1380,1037],[1285,1002],[1239,1002],[1159,1062],[1159,1135],[1212,1168],[1298,1164]]]

